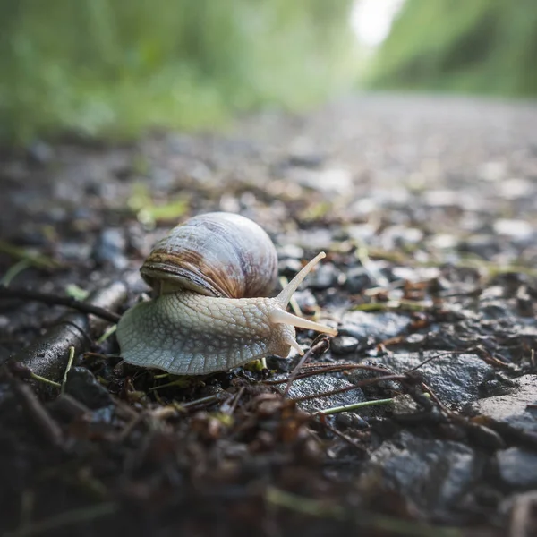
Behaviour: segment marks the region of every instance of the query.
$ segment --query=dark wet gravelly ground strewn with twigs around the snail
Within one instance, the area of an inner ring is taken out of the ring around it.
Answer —
[[[299,331],[293,374],[296,353],[183,379],[122,362],[109,323],[4,298],[0,533],[537,534],[536,124],[532,104],[363,96],[5,150],[10,289],[121,313],[169,227],[226,210],[283,277],[327,251],[295,297],[339,335]]]

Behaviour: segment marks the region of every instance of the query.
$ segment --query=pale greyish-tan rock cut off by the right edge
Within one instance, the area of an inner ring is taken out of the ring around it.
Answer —
[[[468,410],[495,422],[502,430],[537,440],[537,375],[516,379],[509,393],[475,401]]]

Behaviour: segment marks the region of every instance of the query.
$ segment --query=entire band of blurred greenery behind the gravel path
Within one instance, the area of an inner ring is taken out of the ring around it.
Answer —
[[[381,13],[373,46],[353,28]],[[534,0],[0,0],[0,41],[10,143],[214,129],[364,88],[537,93]]]

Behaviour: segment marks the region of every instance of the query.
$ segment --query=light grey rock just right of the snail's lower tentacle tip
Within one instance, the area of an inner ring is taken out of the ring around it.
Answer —
[[[349,311],[341,320],[339,334],[358,339],[360,346],[371,346],[405,333],[410,320],[392,313],[366,313],[365,311]]]

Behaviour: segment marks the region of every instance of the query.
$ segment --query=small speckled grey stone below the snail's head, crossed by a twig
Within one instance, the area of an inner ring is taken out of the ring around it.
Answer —
[[[276,377],[277,379],[277,377]],[[351,388],[353,384],[345,379],[337,379],[329,375],[319,375],[308,377],[307,379],[294,380],[289,389],[289,398],[295,399],[304,396],[316,396],[325,392]],[[284,393],[286,384],[278,384],[275,388]],[[298,406],[305,412],[315,413],[320,410],[327,410],[334,406],[354,405],[365,401],[365,396],[360,388],[354,388],[333,396],[319,396],[307,401],[301,401]]]

